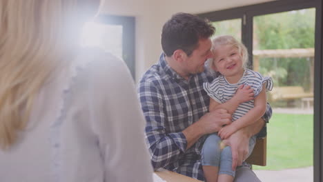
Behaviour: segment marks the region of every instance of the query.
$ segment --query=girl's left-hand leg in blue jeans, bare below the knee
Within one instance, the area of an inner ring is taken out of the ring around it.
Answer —
[[[217,182],[221,154],[220,141],[221,139],[217,134],[210,134],[202,148],[202,168],[207,182]]]

